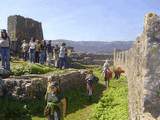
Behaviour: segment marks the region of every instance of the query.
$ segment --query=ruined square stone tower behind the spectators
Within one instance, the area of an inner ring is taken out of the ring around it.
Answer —
[[[43,39],[41,23],[20,15],[8,17],[8,34],[11,39],[11,48],[14,52],[19,52],[20,45],[24,39],[28,42],[31,37],[35,37],[38,40]]]

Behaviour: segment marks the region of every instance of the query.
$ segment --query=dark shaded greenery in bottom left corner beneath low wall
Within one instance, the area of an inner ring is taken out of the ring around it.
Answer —
[[[0,98],[2,120],[31,120],[32,115],[43,115],[44,99],[21,101],[14,98]]]

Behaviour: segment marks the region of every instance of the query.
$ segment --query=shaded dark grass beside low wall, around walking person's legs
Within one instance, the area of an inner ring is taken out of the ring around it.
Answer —
[[[89,102],[86,87],[79,87],[68,90],[64,95],[68,98],[68,111],[67,113],[73,113],[77,110],[83,109],[91,104],[97,103],[102,96],[102,92],[105,87],[102,84],[97,84],[94,89],[92,102]]]

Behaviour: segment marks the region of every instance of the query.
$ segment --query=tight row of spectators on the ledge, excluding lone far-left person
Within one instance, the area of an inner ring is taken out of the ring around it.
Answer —
[[[54,66],[59,68],[66,68],[67,66],[67,48],[66,44],[62,43],[52,46],[51,40],[46,43],[45,40],[36,40],[31,38],[30,42],[23,41],[22,57],[26,61],[29,59],[31,63],[40,63],[51,65],[51,60],[54,59]]]

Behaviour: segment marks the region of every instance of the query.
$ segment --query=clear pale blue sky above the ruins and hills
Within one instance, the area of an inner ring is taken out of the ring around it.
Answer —
[[[18,14],[41,21],[45,39],[129,41],[147,12],[160,14],[160,0],[3,0],[0,9],[0,28]]]

